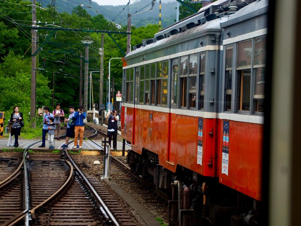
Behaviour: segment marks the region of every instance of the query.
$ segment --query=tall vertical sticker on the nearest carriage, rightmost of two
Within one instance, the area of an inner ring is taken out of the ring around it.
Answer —
[[[222,174],[227,176],[229,168],[229,127],[230,121],[223,121]]]

